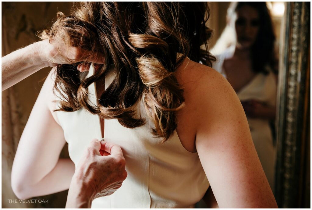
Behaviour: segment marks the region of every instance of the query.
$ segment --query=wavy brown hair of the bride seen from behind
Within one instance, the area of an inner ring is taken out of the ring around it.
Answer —
[[[54,90],[61,95],[59,110],[85,108],[135,128],[145,124],[134,106],[144,95],[145,109],[155,125],[152,134],[167,140],[184,105],[177,67],[186,56],[208,66],[215,60],[208,52],[212,34],[206,26],[208,18],[205,2],[80,2],[68,16],[59,12],[50,31],[41,33],[42,39],[59,39],[67,46],[106,55],[100,70],[83,80],[77,71],[81,62],[57,66]],[[111,66],[114,81],[100,95],[99,106],[90,105],[88,86],[104,81]]]

